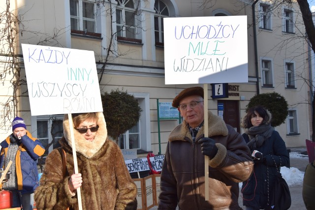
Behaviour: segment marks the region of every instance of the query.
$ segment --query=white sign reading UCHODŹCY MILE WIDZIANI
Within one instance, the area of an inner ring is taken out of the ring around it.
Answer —
[[[165,84],[248,82],[247,16],[163,20]]]

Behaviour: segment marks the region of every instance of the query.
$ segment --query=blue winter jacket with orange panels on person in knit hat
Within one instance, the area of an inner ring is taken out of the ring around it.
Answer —
[[[15,156],[18,190],[21,190],[22,194],[33,193],[39,183],[36,160],[44,154],[45,149],[38,139],[32,137],[29,131],[26,131],[21,142]],[[6,167],[4,166],[4,159],[9,145],[10,136],[0,143],[0,168],[3,169]],[[0,187],[2,187],[1,183]]]

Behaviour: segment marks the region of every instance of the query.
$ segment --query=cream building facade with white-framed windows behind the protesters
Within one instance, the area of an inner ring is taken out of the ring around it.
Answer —
[[[2,11],[7,2],[1,1]],[[310,139],[309,89],[302,79],[308,77],[309,61],[297,3],[275,6],[269,0],[10,0],[10,11],[21,20],[15,26],[18,33],[14,40],[20,78],[27,80],[21,43],[93,51],[100,92],[123,88],[134,95],[143,110],[138,124],[119,142],[122,149],[138,149],[140,156],[148,151],[163,154],[170,131],[179,123],[158,122],[157,101],[172,102],[181,90],[203,86],[165,85],[163,18],[246,15],[249,82],[228,84],[229,97],[220,99],[211,97],[209,84],[209,110],[217,115],[223,111],[225,122],[242,133],[240,120],[251,97],[278,92],[289,105],[286,121],[275,128],[286,146],[304,147],[305,139]],[[3,63],[10,60],[2,46],[0,66],[4,69]],[[10,77],[1,76],[2,81],[0,100],[4,102],[14,94]],[[31,116],[26,83],[19,87],[17,99],[18,116],[26,120],[34,137],[45,146],[61,138],[63,115]],[[0,108],[5,110],[4,105]],[[15,115],[13,109],[10,115]],[[4,139],[8,133],[10,122],[5,121],[0,137]],[[46,153],[56,147],[58,144],[52,144]]]

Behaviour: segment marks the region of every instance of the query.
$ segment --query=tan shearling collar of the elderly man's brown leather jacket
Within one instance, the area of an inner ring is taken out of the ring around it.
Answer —
[[[198,132],[196,138],[199,138],[201,135],[204,134],[204,129],[205,128],[203,125]],[[225,122],[220,117],[212,114],[211,111],[208,111],[208,132],[209,137],[218,135],[227,136],[228,134]],[[179,124],[177,127],[174,128],[169,136],[169,141],[183,141],[185,137],[191,139],[191,134],[189,132],[188,123],[186,122],[186,120],[184,120],[182,124]]]

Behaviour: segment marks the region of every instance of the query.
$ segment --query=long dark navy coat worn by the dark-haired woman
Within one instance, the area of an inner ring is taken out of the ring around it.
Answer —
[[[242,135],[248,143],[250,141],[247,134]],[[269,197],[273,191],[273,186],[276,181],[277,168],[290,166],[290,159],[285,147],[284,140],[277,131],[273,131],[269,139],[265,140],[261,147],[256,150],[263,154],[264,162],[254,161],[254,172],[247,181],[242,185],[243,205],[254,209],[266,208],[268,202],[268,186]],[[274,159],[274,160],[273,160]],[[281,164],[280,164],[281,159]],[[267,176],[268,167],[268,176]],[[269,183],[268,183],[269,182]]]

